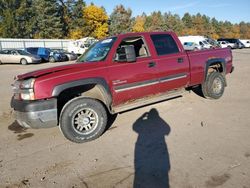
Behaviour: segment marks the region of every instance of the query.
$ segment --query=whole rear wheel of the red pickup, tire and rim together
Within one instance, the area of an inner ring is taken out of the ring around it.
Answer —
[[[212,72],[201,85],[202,93],[206,98],[219,99],[224,93],[225,85],[225,77],[219,72]]]

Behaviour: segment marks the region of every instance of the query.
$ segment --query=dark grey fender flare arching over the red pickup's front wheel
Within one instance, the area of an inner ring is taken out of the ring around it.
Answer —
[[[108,107],[110,107],[112,103],[112,95],[111,95],[111,91],[109,89],[108,83],[103,78],[87,78],[87,79],[81,79],[81,80],[71,81],[71,82],[57,85],[54,87],[52,91],[52,96],[58,97],[60,93],[66,89],[70,89],[70,88],[77,87],[77,86],[84,86],[88,84],[96,84],[96,85],[102,86],[106,95],[107,105]]]

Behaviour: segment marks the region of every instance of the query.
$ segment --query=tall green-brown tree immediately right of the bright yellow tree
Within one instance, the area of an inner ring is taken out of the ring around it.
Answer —
[[[131,15],[131,9],[125,9],[123,5],[116,6],[110,15],[109,33],[115,35],[131,31]]]

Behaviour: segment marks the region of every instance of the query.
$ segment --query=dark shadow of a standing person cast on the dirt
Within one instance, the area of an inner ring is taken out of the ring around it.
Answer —
[[[170,159],[165,136],[169,135],[170,126],[153,108],[136,120],[133,130],[138,133],[133,187],[168,188]]]

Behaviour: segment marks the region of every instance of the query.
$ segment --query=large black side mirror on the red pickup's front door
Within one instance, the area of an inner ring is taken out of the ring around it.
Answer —
[[[134,46],[133,45],[121,46],[121,48],[117,50],[115,61],[135,62],[136,54]]]

